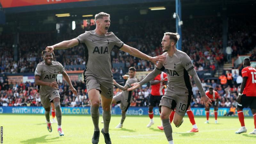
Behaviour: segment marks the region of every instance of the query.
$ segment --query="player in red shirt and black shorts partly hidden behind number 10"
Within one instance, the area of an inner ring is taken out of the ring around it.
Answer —
[[[148,116],[150,118],[150,122],[147,125],[147,127],[150,127],[151,125],[154,124],[153,108],[155,106],[158,107],[158,110],[161,113],[161,108],[159,107],[159,104],[160,104],[160,100],[162,99],[162,96],[164,95],[164,89],[163,89],[164,81],[167,81],[167,74],[164,72],[161,72],[153,80],[150,81],[151,92],[148,98]],[[158,127],[161,127],[161,126],[158,126]]]

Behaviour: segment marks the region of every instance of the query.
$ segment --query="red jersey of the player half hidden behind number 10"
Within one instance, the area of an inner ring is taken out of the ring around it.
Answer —
[[[161,72],[161,74],[157,75],[154,80],[162,80],[165,79],[167,81],[167,74],[164,72]],[[160,96],[164,95],[164,89],[163,89],[163,82],[160,82],[155,85],[151,85],[151,95]]]

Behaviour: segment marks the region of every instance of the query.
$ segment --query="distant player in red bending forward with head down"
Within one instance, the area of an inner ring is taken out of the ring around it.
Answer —
[[[218,92],[213,90],[213,87],[209,87],[209,91],[206,92],[206,95],[212,100],[213,108],[214,108],[214,116],[215,116],[215,124],[217,124],[218,117],[218,107],[219,107],[219,94]],[[210,115],[210,107],[205,107],[206,113],[206,122],[205,124],[209,124],[209,115]]]

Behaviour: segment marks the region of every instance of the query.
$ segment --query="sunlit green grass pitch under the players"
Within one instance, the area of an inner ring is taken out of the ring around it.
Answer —
[[[110,138],[113,144],[168,144],[164,132],[158,130],[157,125],[161,124],[159,116],[154,117],[155,124],[147,128],[148,116],[126,116],[124,126],[116,129],[120,123],[121,116],[112,116],[110,122]],[[219,117],[219,124],[214,124],[214,117],[210,117],[210,124],[204,124],[205,117],[196,117],[196,124],[199,128],[197,133],[188,133],[192,128],[187,116],[184,123],[176,128],[172,124],[173,140],[175,144],[255,144],[256,135],[249,135],[254,128],[253,118],[245,118],[247,133],[235,134],[240,128],[238,117]],[[100,116],[100,121],[102,117]],[[52,132],[48,132],[44,115],[15,115],[1,114],[0,126],[3,126],[4,144],[16,143],[67,143],[90,144],[93,135],[93,124],[90,115],[83,116],[62,116],[62,129],[65,133],[60,137],[57,132],[57,124],[52,124]],[[100,123],[100,129],[103,124]],[[100,133],[99,144],[104,144],[104,137]]]

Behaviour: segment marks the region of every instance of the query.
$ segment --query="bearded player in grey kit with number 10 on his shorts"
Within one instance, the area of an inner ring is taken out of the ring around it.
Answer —
[[[161,43],[164,52],[162,55],[165,56],[164,61],[159,61],[158,65],[152,72],[150,72],[139,83],[132,84],[132,87],[128,89],[128,91],[130,91],[139,88],[141,85],[149,82],[166,69],[168,75],[168,86],[160,101],[160,116],[164,127],[164,133],[169,144],[173,144],[172,126],[169,119],[172,110],[176,108],[173,123],[176,127],[180,127],[183,123],[183,117],[191,102],[193,92],[192,82],[189,75],[194,78],[194,81],[199,88],[201,103],[204,103],[206,107],[208,107],[212,102],[206,96],[203,85],[196,74],[196,70],[189,56],[185,52],[176,49],[175,45],[179,38],[180,35],[178,33],[164,33]]]

